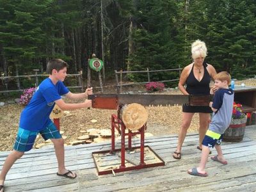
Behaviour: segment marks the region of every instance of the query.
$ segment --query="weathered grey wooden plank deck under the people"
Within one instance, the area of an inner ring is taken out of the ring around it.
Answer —
[[[198,135],[189,134],[184,142],[182,159],[175,160],[177,136],[150,137],[150,146],[166,163],[165,166],[98,176],[92,152],[106,150],[110,143],[95,143],[66,147],[66,165],[76,170],[77,179],[56,175],[54,149],[31,150],[13,165],[6,177],[5,191],[255,191],[256,190],[256,125],[246,127],[240,143],[223,143],[228,161],[222,165],[209,160],[208,177],[187,173],[198,165],[200,151],[196,149]],[[133,141],[133,146],[139,141]],[[9,152],[0,152],[0,169]],[[212,150],[216,154],[216,150]]]

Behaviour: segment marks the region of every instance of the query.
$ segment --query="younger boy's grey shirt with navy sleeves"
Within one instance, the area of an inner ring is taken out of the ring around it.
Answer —
[[[223,134],[231,122],[234,103],[234,91],[232,89],[217,90],[212,101],[212,108],[217,109],[212,114],[209,130]]]

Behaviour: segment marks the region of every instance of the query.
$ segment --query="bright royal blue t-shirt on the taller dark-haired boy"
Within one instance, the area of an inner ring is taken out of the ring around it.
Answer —
[[[68,88],[58,81],[53,84],[50,78],[44,79],[36,89],[28,106],[20,114],[20,127],[30,131],[40,131],[51,124],[49,118],[55,100],[69,92]]]

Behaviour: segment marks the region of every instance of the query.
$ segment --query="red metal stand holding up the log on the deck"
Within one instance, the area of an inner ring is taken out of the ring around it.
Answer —
[[[116,168],[114,170],[104,170],[104,171],[99,171],[97,168],[98,174],[99,175],[106,175],[109,173],[118,173],[118,172],[126,172],[130,170],[139,170],[142,168],[149,168],[149,167],[154,167],[154,166],[163,166],[164,161],[161,159],[161,157],[157,156],[157,154],[152,150],[152,148],[145,146],[144,145],[144,137],[145,137],[145,129],[147,129],[147,125],[144,124],[138,132],[132,132],[129,130],[128,133],[125,133],[125,125],[118,118],[116,115],[111,115],[111,150],[104,150],[104,151],[99,151],[99,152],[93,152],[92,154],[115,154],[115,152],[121,151],[121,164],[119,168]],[[119,134],[121,134],[121,149],[116,149],[115,148],[115,129],[118,130]],[[135,136],[136,134],[140,134],[140,147],[132,147],[132,136]],[[128,136],[128,148],[125,148],[125,136]],[[144,148],[147,147],[161,162],[160,163],[150,163],[146,164],[144,161]],[[125,150],[135,150],[140,148],[140,164],[134,165],[134,166],[129,166],[125,167]],[[95,161],[95,159],[93,159]],[[97,165],[97,163],[95,162]]]

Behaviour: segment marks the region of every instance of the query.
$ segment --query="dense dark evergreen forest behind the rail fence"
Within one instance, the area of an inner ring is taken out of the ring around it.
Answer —
[[[254,77],[255,0],[0,0],[1,76],[43,73],[47,61],[61,58],[68,73],[83,70],[86,78],[93,53],[104,61],[104,81],[114,70],[184,67],[197,39],[217,72]],[[152,81],[177,76],[166,72]]]

